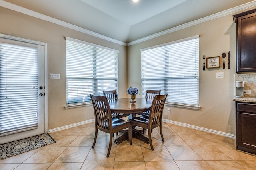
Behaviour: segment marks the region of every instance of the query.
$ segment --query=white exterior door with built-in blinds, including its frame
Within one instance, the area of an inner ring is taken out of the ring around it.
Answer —
[[[44,133],[44,46],[0,39],[0,143]]]

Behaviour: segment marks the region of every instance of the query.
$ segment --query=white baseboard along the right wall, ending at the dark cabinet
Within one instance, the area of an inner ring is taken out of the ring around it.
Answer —
[[[225,132],[221,132],[221,131],[215,131],[215,130],[212,130],[212,129],[207,129],[207,128],[204,128],[204,127],[189,125],[189,124],[186,124],[186,123],[180,123],[180,122],[178,122],[178,121],[172,121],[172,120],[168,120],[168,119],[163,119],[163,122],[172,123],[172,124],[174,124],[174,125],[179,125],[179,126],[183,126],[183,127],[188,127],[188,128],[196,129],[196,130],[199,130],[199,131],[204,131],[204,132],[208,132],[208,133],[213,133],[213,134],[215,134],[215,135],[220,135],[220,136],[224,136],[224,137],[229,137],[229,138],[232,138],[232,139],[236,139],[236,135],[231,134],[231,133],[225,133]]]

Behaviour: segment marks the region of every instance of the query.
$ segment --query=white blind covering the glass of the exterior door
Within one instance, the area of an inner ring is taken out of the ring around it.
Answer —
[[[37,128],[37,89],[38,49],[0,42],[0,135]]]

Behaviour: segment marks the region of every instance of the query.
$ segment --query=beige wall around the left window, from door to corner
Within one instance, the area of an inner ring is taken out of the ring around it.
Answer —
[[[94,118],[92,106],[64,108],[66,105],[66,36],[120,51],[119,96],[126,97],[127,47],[2,7],[0,8],[0,33],[48,43],[48,73],[60,74],[59,80],[48,79],[49,129]]]

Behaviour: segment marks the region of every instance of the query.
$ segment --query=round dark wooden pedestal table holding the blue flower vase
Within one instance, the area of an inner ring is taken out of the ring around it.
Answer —
[[[132,119],[136,117],[137,113],[142,113],[148,111],[151,108],[152,101],[146,100],[146,98],[136,98],[136,102],[130,102],[131,98],[120,98],[118,100],[108,100],[111,113],[126,113],[130,114],[128,117]],[[142,135],[140,131],[135,129],[135,126],[132,126],[132,137],[139,139],[145,143],[149,143],[149,139]],[[114,143],[119,144],[122,141],[128,139],[128,131],[126,131],[122,136],[114,140]]]

